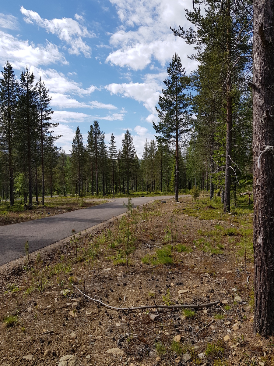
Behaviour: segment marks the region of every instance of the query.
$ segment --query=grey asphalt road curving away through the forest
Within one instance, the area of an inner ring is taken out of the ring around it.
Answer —
[[[134,207],[155,199],[172,198],[174,196],[133,198]],[[66,212],[43,219],[27,221],[0,227],[0,266],[25,255],[25,243],[29,243],[30,253],[47,245],[58,242],[76,232],[84,231],[112,217],[126,212],[123,202],[127,198],[114,198],[102,205]]]

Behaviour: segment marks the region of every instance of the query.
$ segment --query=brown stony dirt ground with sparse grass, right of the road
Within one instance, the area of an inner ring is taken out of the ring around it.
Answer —
[[[129,268],[121,254],[126,244],[113,247],[121,229],[115,219],[47,256],[32,255],[31,273],[27,258],[23,266],[0,268],[0,365],[274,365],[273,337],[253,335],[253,264],[245,270],[239,257],[240,223],[187,216],[194,206],[183,198],[140,208],[139,220],[130,219],[137,240]],[[224,235],[205,239],[212,230]],[[157,264],[156,251],[171,246],[171,231],[172,263]],[[91,243],[97,252],[89,261],[81,253]],[[152,308],[109,309],[72,284],[106,305]],[[65,355],[74,357],[62,363]]]

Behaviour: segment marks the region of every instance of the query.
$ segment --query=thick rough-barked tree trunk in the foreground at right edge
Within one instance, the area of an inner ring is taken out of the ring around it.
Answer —
[[[254,0],[254,333],[274,334],[274,1]]]

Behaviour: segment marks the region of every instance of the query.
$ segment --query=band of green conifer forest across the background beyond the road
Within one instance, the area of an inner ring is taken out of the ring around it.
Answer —
[[[176,90],[172,88],[174,75],[180,83]],[[58,124],[52,123],[51,98],[45,83],[41,78],[36,82],[28,67],[22,70],[20,81],[16,81],[12,65],[7,62],[0,79],[2,200],[10,199],[13,205],[14,198],[32,203],[33,197],[38,201],[38,197],[56,194],[175,193],[176,172],[181,193],[197,186],[209,190],[211,197],[214,188],[224,195],[226,123],[221,99],[224,95],[214,101],[214,106],[208,105],[213,101],[204,95],[202,77],[195,75],[200,91],[191,96],[186,90],[190,86],[193,90],[194,82],[185,75],[180,57],[173,57],[168,67],[169,78],[164,81],[167,89],[159,98],[157,112],[161,122],[154,124],[157,136],[145,141],[141,158],[136,154],[129,131],[122,139],[122,148],[117,149],[113,134],[106,143],[97,120],[90,125],[86,146],[77,127],[71,154],[66,154],[57,147],[60,136],[53,135]],[[237,189],[252,182],[252,105],[250,92],[234,87],[237,104],[233,103],[232,115],[231,190],[236,200]],[[179,97],[174,107],[179,113],[178,152],[176,126],[170,123],[172,98],[176,93]],[[205,113],[211,113],[209,120]]]

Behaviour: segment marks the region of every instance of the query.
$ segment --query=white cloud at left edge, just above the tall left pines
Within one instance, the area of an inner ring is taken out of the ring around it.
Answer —
[[[37,67],[51,63],[68,64],[57,46],[50,42],[47,42],[45,47],[35,46],[32,42],[19,40],[0,31],[0,62],[3,65],[7,60],[16,70],[26,65]]]

